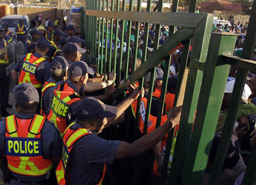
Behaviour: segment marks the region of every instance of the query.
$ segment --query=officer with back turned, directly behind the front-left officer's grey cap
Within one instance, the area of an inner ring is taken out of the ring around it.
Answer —
[[[49,44],[46,39],[40,38],[36,43],[36,53],[28,53],[19,59],[12,70],[15,84],[30,83],[35,86],[41,99],[41,86],[50,78],[50,64],[44,57],[48,52]],[[17,73],[19,72],[19,77]],[[38,104],[37,113],[40,112]]]

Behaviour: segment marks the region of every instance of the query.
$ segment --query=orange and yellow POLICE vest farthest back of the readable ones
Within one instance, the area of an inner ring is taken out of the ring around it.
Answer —
[[[22,64],[22,70],[19,73],[18,83],[30,83],[35,88],[41,87],[41,82],[35,78],[38,65],[45,61],[44,57],[35,57],[32,53],[28,53]]]

